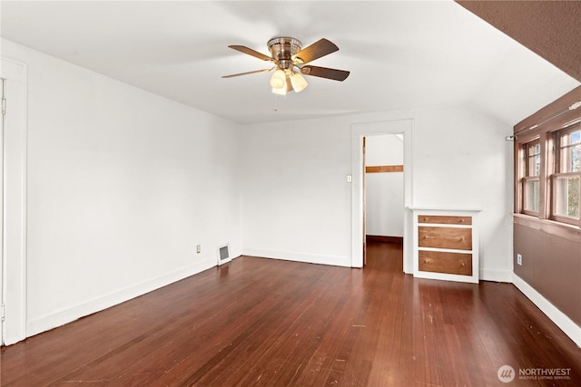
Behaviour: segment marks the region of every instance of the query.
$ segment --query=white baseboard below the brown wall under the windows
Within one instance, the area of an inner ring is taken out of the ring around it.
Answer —
[[[537,305],[544,314],[547,314],[547,317],[577,344],[577,347],[581,347],[581,326],[558,310],[555,305],[551,304],[547,298],[538,293],[531,285],[528,285],[521,277],[513,274],[512,282],[533,304]]]

